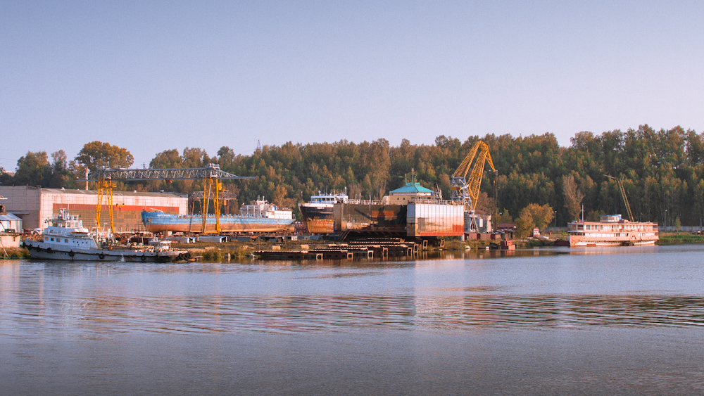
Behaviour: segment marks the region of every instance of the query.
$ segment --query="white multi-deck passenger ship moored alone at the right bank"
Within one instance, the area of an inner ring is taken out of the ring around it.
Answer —
[[[568,224],[570,247],[653,245],[659,239],[657,223],[629,222],[621,215],[605,215],[599,220]]]

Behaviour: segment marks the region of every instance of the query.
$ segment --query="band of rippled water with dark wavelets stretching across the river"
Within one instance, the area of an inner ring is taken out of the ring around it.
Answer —
[[[479,288],[479,290],[482,290]],[[28,333],[453,330],[534,326],[704,326],[688,295],[265,295],[23,300],[6,328]]]

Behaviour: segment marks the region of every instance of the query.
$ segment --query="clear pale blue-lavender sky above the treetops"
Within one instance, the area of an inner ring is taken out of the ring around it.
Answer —
[[[164,150],[677,125],[703,1],[0,0],[0,166]]]

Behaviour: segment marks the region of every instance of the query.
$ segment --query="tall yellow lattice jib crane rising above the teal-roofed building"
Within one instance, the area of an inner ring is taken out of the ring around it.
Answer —
[[[475,160],[476,158],[476,160]],[[479,198],[479,186],[482,184],[484,176],[484,165],[489,162],[491,171],[496,172],[494,161],[491,160],[489,146],[483,141],[477,141],[472,146],[470,153],[467,154],[450,181],[452,190],[452,200],[461,200],[465,203],[465,209],[469,212],[474,212],[477,206],[477,198]],[[472,166],[472,163],[474,166]],[[472,172],[470,172],[470,167]],[[467,173],[470,172],[470,178],[467,178]]]

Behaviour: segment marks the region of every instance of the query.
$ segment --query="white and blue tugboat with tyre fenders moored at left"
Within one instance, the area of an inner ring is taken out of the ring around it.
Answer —
[[[129,262],[174,262],[190,258],[185,250],[172,250],[170,241],[131,246],[103,243],[83,226],[78,216],[70,215],[67,210],[60,210],[55,219],[47,222],[49,226],[41,239],[24,241],[32,258]]]

